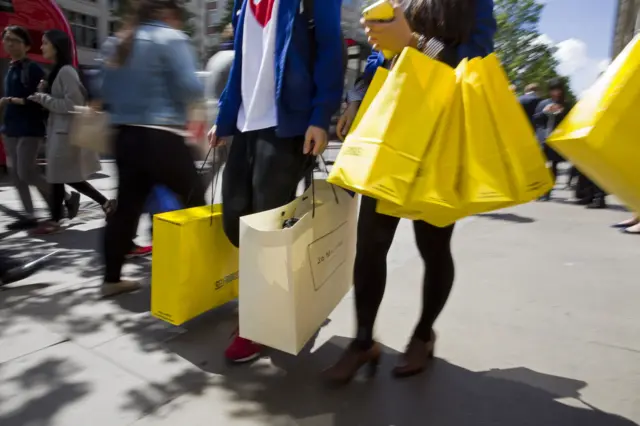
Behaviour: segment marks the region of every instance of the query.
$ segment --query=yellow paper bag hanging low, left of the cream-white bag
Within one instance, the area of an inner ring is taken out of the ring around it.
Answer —
[[[238,297],[238,250],[220,205],[156,215],[153,234],[153,316],[180,325]]]

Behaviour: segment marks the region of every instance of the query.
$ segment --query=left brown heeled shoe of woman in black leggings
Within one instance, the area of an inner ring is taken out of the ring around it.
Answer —
[[[380,345],[374,343],[368,350],[350,345],[333,366],[322,372],[325,382],[333,386],[344,386],[351,382],[362,367],[367,367],[367,376],[373,377],[380,364]]]

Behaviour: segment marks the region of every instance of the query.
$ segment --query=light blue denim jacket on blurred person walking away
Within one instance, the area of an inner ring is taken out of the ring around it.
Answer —
[[[115,47],[107,44],[103,53]],[[103,69],[102,100],[114,125],[183,127],[189,104],[204,99],[189,37],[162,22],[140,25],[127,62]]]

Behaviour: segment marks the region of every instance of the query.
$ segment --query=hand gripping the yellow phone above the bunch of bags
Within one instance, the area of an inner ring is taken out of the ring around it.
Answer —
[[[394,5],[395,17],[390,22],[361,21],[365,32],[369,37],[369,44],[375,50],[389,50],[400,53],[410,46],[413,41],[413,32],[409,22],[404,16],[404,9],[398,3]]]

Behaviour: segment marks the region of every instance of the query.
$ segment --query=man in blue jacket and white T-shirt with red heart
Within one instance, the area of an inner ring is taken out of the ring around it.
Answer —
[[[233,136],[222,181],[225,233],[239,244],[240,217],[291,202],[327,146],[343,76],[341,0],[236,0],[235,58],[212,146]],[[321,4],[320,4],[321,3]],[[260,347],[236,336],[225,353],[248,362]]]

